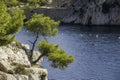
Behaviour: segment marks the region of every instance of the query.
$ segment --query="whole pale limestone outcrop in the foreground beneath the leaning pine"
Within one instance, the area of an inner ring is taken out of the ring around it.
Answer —
[[[28,45],[22,47],[29,49]],[[40,55],[34,53],[36,57]],[[25,51],[12,43],[0,47],[0,80],[47,80],[47,70],[31,65]]]

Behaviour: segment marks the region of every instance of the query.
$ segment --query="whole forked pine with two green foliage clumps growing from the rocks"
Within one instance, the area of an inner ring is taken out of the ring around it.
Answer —
[[[33,32],[36,37],[32,42],[32,49],[30,52],[30,58],[32,64],[37,63],[42,57],[48,57],[49,61],[52,62],[52,67],[63,69],[68,64],[74,61],[73,56],[68,55],[63,49],[59,49],[58,45],[49,43],[46,37],[56,36],[58,33],[59,22],[54,21],[50,17],[45,17],[43,14],[34,14],[30,20],[26,22],[27,29]],[[38,49],[41,55],[33,61],[33,50],[39,37],[44,37],[44,40],[39,42]]]

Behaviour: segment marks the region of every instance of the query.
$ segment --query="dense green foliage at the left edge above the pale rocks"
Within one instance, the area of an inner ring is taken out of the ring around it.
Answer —
[[[4,1],[0,1],[0,46],[11,43],[14,34],[20,31],[25,18],[24,11],[17,7],[7,9]]]

